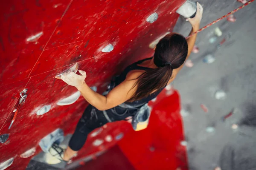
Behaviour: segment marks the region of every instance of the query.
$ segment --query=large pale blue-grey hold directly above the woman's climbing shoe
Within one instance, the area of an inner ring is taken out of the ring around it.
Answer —
[[[39,142],[39,146],[44,152],[48,152],[53,143],[60,144],[64,140],[64,132],[61,129],[56,129]]]

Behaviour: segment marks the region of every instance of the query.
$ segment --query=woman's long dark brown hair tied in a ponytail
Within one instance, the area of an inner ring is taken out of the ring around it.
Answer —
[[[188,44],[185,37],[176,33],[166,35],[158,42],[154,53],[154,64],[158,68],[148,69],[137,78],[134,85],[137,85],[137,91],[128,101],[143,99],[153,91],[164,88],[172,78],[173,69],[183,64],[187,54]]]

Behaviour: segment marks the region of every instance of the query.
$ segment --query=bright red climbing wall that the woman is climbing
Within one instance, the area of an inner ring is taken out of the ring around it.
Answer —
[[[109,79],[122,69],[154,51],[148,45],[167,31],[172,31],[185,0],[23,0],[0,3],[0,135],[9,139],[0,143],[0,163],[14,158],[9,169],[23,170],[29,158],[20,158],[32,147],[41,151],[39,141],[56,128],[72,133],[87,103],[80,98],[72,105],[56,103],[76,92],[54,79],[78,62],[87,72],[86,82],[104,91]],[[156,12],[158,18],[148,23]],[[101,50],[108,44],[113,51]],[[19,93],[28,89],[11,129],[8,127],[17,107]],[[176,98],[177,99],[177,98]],[[36,112],[44,105],[51,109]],[[128,124],[108,124],[100,134],[116,136],[127,133]],[[103,128],[103,127],[102,127]],[[116,141],[88,147],[77,159],[105,150]],[[4,154],[3,154],[4,153]]]

